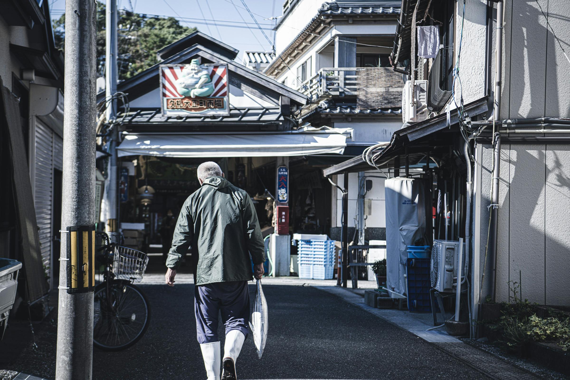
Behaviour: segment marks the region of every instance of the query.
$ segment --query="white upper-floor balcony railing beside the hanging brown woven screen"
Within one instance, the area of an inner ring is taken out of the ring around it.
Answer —
[[[402,75],[386,68],[378,68],[381,76],[401,81]],[[360,67],[323,67],[314,76],[300,86],[299,91],[312,98],[318,99],[323,95],[333,97],[358,96],[367,84],[359,83],[357,71]],[[404,83],[401,83],[401,87]]]

